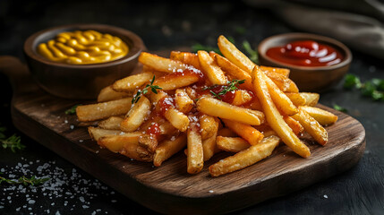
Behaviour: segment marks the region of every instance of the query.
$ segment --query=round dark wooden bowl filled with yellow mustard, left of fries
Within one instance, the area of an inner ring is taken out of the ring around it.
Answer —
[[[102,24],[41,30],[24,43],[32,77],[65,99],[95,99],[98,92],[132,73],[145,46],[132,31]]]

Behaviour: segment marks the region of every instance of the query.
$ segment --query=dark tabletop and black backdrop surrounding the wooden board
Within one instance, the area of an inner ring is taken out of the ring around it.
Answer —
[[[298,31],[273,12],[242,2],[128,1],[0,1],[0,55],[22,56],[23,41],[30,34],[56,25],[105,23],[136,32],[150,50],[216,46],[218,35],[243,39],[256,47],[271,35]],[[350,73],[362,80],[384,78],[379,59],[353,50]],[[21,134],[25,150],[0,149],[0,176],[49,176],[43,186],[0,185],[0,214],[149,214],[154,213],[116,193],[107,185],[74,167],[13,128],[12,90],[0,73],[0,123],[7,133]],[[236,214],[382,214],[384,213],[384,102],[363,98],[339,84],[321,94],[320,102],[346,107],[366,129],[363,159],[352,169],[316,185],[277,199],[261,202]],[[298,178],[300,180],[300,178]],[[51,189],[51,190],[49,190]],[[326,198],[325,195],[328,197]],[[172,202],[170,202],[172,203]]]

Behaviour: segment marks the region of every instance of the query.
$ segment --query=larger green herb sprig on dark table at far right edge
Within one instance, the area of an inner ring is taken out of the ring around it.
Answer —
[[[344,88],[347,90],[356,88],[362,92],[363,96],[371,97],[373,100],[384,101],[384,79],[372,79],[362,83],[356,75],[347,74]]]

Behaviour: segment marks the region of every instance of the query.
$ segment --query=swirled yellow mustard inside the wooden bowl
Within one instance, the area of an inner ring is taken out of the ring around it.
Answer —
[[[96,30],[57,34],[38,45],[38,54],[64,64],[101,64],[125,56],[129,51],[122,39]]]

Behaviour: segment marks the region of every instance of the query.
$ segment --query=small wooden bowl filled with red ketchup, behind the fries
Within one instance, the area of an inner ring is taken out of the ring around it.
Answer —
[[[301,91],[329,90],[348,72],[352,54],[346,45],[320,35],[287,33],[261,41],[260,64],[290,69]]]

